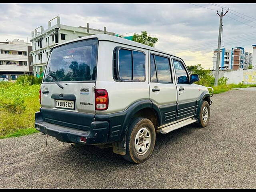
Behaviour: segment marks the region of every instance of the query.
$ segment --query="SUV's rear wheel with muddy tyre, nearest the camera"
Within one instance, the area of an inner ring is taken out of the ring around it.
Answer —
[[[152,154],[156,141],[153,123],[146,118],[135,118],[130,123],[126,135],[125,160],[132,163],[142,163]]]

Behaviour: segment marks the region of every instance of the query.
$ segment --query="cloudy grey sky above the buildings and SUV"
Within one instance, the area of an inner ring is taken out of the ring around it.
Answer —
[[[197,5],[197,6],[196,6]],[[256,44],[256,4],[218,4],[230,8],[223,18],[224,48]],[[206,7],[206,8],[202,8]],[[60,16],[60,24],[104,29],[130,36],[146,30],[159,40],[155,47],[184,59],[186,65],[212,67],[217,48],[220,7],[205,4],[0,4],[0,41],[30,40],[38,26]],[[241,14],[240,14],[241,13]],[[242,15],[243,14],[243,15]],[[53,25],[54,23],[52,23]]]

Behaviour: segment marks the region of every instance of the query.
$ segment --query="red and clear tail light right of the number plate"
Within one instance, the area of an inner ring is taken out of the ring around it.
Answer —
[[[106,110],[108,108],[108,92],[105,89],[95,90],[95,110]]]

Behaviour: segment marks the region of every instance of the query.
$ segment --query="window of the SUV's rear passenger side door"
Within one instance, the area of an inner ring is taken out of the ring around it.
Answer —
[[[172,83],[169,58],[153,54],[151,54],[150,58],[151,82]]]

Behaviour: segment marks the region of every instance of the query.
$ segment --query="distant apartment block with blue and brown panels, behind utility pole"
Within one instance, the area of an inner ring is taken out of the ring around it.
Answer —
[[[216,69],[217,50],[213,52],[212,70]],[[247,69],[252,63],[252,53],[244,52],[243,47],[234,47],[231,49],[222,48],[220,50],[220,64],[222,70],[226,69]]]

